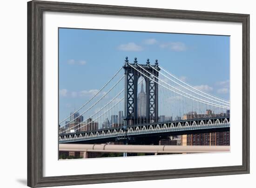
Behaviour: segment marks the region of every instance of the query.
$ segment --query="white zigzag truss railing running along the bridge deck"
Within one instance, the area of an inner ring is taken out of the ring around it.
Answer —
[[[98,130],[94,132],[85,133],[70,133],[59,136],[60,143],[85,141],[92,139],[111,138],[124,136],[138,135],[138,134],[151,134],[159,132],[177,132],[199,129],[212,129],[212,128],[225,128],[230,127],[230,122],[227,118],[220,119],[207,119],[207,120],[187,120],[182,122],[172,123],[158,123],[155,125],[134,125],[128,128],[125,133],[120,127],[111,130]]]

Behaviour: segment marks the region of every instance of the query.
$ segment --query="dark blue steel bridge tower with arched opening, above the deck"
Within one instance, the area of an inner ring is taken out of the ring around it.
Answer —
[[[143,70],[140,66],[143,67]],[[158,62],[155,60],[155,69],[149,66],[150,62],[147,59],[146,64],[138,64],[135,57],[134,63],[129,63],[128,57],[125,58],[123,66],[125,74],[125,101],[124,101],[124,116],[125,126],[138,124],[138,79],[142,76],[146,82],[146,122],[152,123],[158,121]],[[134,69],[134,68],[135,69]],[[140,72],[138,72],[137,70]],[[150,74],[149,74],[150,73]],[[152,75],[151,75],[152,74]],[[147,76],[145,76],[147,75]],[[156,77],[154,77],[155,75]],[[154,81],[153,81],[154,80]],[[156,82],[155,82],[156,81]]]

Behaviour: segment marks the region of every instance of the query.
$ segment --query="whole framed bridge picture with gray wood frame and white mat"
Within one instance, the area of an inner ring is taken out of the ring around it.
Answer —
[[[27,15],[29,187],[249,173],[248,14]]]

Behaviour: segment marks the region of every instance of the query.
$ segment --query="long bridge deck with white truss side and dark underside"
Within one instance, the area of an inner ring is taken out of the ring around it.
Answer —
[[[129,125],[127,132],[122,127],[99,129],[87,132],[63,133],[59,135],[59,143],[104,143],[122,140],[122,138],[151,139],[170,135],[193,134],[203,132],[229,131],[229,116],[204,119],[188,119]]]

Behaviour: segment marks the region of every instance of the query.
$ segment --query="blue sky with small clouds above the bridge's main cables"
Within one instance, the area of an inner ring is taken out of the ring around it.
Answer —
[[[187,83],[229,100],[228,36],[60,28],[60,119],[100,89],[126,56],[141,64],[158,59]]]

